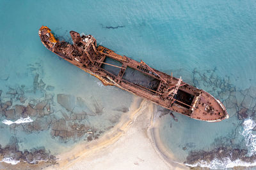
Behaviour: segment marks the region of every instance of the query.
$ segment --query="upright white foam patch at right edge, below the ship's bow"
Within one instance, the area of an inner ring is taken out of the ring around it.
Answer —
[[[256,134],[253,134],[253,127],[256,123],[248,118],[243,122],[243,132],[241,134],[244,136],[245,144],[248,148],[248,155],[252,156],[256,153]]]

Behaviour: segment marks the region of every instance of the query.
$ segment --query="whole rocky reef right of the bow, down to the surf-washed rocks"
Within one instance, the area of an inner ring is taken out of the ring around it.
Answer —
[[[237,118],[238,124],[233,124],[235,128],[229,136],[216,139],[216,141],[212,143],[214,146],[212,150],[192,150],[189,152],[186,162],[184,163],[189,166],[195,166],[202,162],[204,162],[204,164],[210,164],[216,159],[220,162],[227,162],[227,160],[239,160],[249,164],[255,162],[256,155],[248,154],[246,146],[242,143],[237,144],[234,141],[236,141],[237,136],[239,136],[239,132],[241,133],[244,120],[246,118],[255,120],[256,87],[239,89],[232,85],[230,78],[220,78],[217,76],[216,69],[203,72],[194,69],[193,83],[196,87],[205,89],[214,97],[220,99],[227,108],[230,117]],[[254,129],[256,129],[256,127],[254,127]],[[222,164],[225,166],[225,163]]]

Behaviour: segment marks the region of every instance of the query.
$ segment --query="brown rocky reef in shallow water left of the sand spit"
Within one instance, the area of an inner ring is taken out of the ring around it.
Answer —
[[[38,71],[33,65],[32,71]],[[26,87],[19,85],[8,87],[7,91],[0,90],[0,118],[12,121],[12,124],[0,125],[0,128],[10,129],[15,136],[19,132],[27,134],[48,132],[50,138],[56,143],[72,141],[92,141],[98,139],[104,131],[108,131],[113,125],[95,127],[90,119],[97,119],[104,112],[104,107],[95,99],[90,98],[91,103],[83,97],[75,97],[70,94],[54,93],[54,86],[47,85],[40,74],[35,73],[33,85]],[[116,111],[128,111],[128,108],[117,108]],[[31,121],[23,122],[22,118],[30,118]],[[119,117],[114,117],[117,122]],[[20,120],[20,121],[19,121]],[[19,139],[12,136],[6,146],[0,145],[0,161],[12,158],[13,161],[37,164],[40,161],[54,162],[56,159],[50,152],[45,152],[44,146],[33,150],[19,150]]]

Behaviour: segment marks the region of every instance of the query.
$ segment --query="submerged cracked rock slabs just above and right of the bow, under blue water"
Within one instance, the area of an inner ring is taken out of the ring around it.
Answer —
[[[230,117],[236,115],[239,120],[254,117],[256,111],[256,87],[238,89],[227,76],[221,78],[216,74],[216,68],[206,71],[193,71],[193,84],[205,89],[221,100]]]

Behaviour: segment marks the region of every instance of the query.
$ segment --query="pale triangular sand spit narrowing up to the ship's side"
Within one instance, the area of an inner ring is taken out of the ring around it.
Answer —
[[[187,169],[169,161],[174,155],[159,152],[152,136],[153,111],[154,104],[134,97],[130,111],[111,132],[70,148],[57,156],[57,165],[45,169]]]

